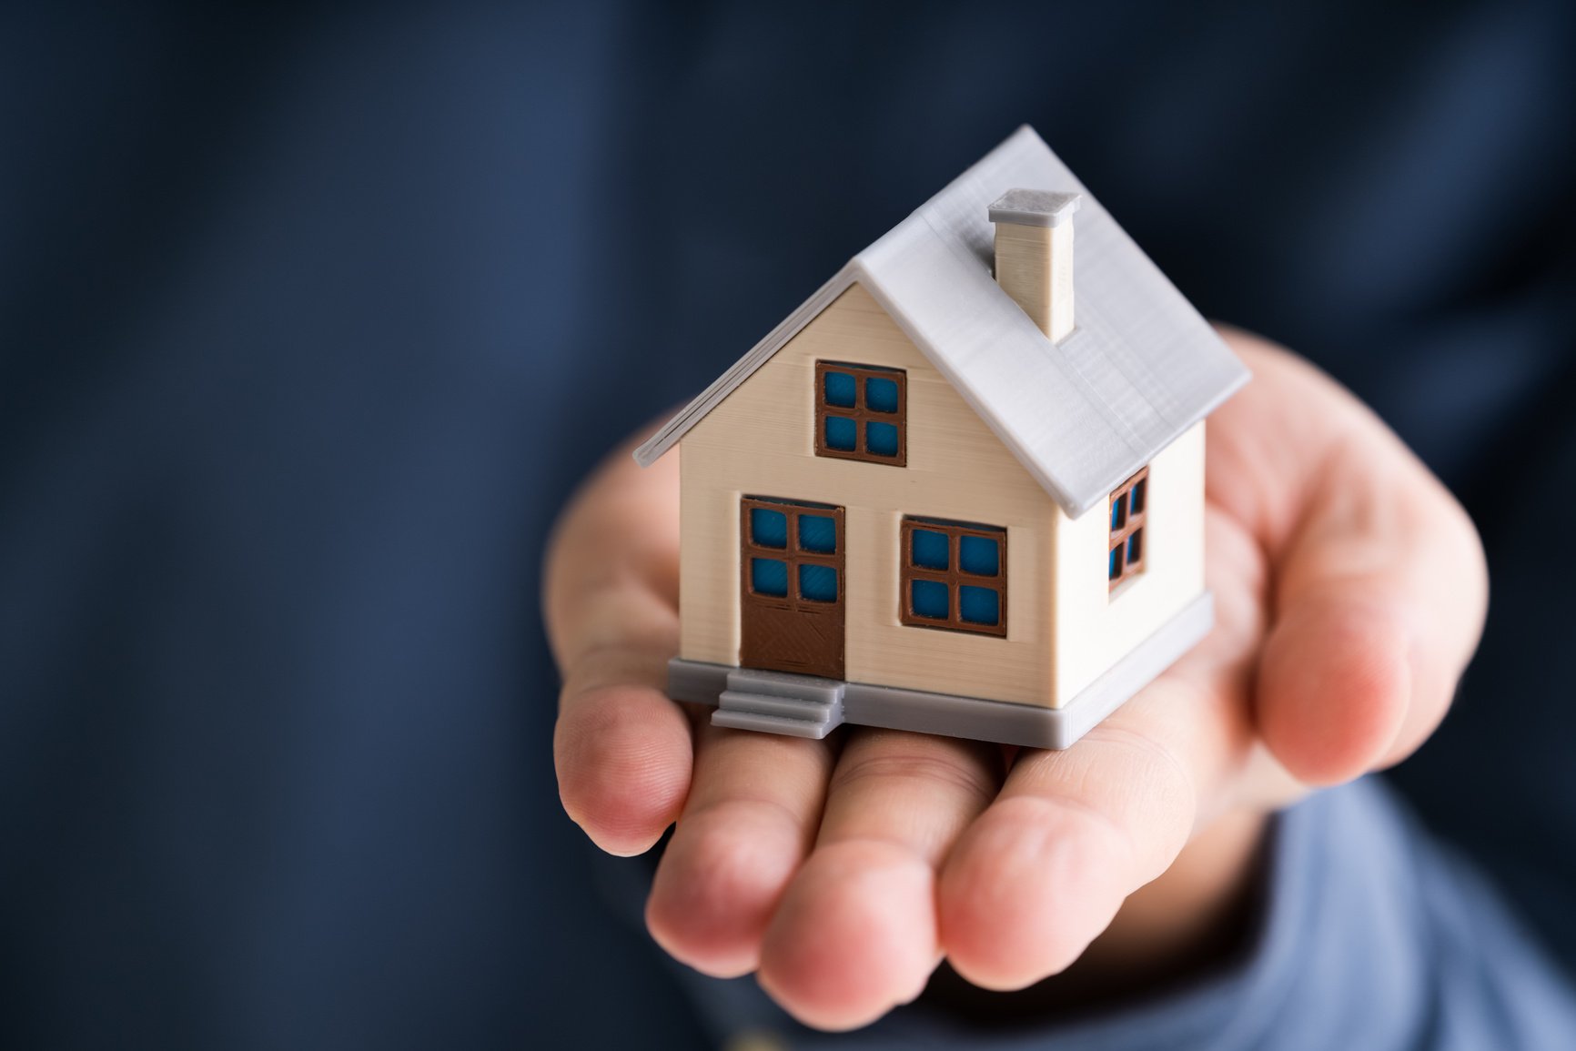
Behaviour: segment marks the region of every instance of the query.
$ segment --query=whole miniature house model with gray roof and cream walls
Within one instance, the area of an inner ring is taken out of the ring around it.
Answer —
[[[1204,418],[1247,378],[1021,128],[637,451],[681,455],[670,693],[1070,745],[1214,622]]]

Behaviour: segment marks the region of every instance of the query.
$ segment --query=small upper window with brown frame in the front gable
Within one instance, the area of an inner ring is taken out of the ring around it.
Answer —
[[[908,465],[908,373],[815,362],[815,454]]]

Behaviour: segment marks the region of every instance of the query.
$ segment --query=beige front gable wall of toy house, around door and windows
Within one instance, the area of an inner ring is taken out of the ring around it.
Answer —
[[[815,455],[815,362],[908,372],[908,466]],[[679,655],[739,663],[739,498],[846,507],[846,676],[1054,704],[1056,503],[860,285],[684,436]],[[905,514],[1007,529],[1007,638],[898,622]]]

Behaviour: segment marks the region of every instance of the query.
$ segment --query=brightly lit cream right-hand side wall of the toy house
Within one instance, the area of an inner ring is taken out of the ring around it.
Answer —
[[[1062,706],[1204,591],[1204,424],[1149,465],[1144,572],[1108,591],[1110,507],[1059,517],[1056,704]]]

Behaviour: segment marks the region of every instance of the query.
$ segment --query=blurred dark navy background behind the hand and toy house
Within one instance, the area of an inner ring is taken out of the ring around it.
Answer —
[[[1576,964],[1567,5],[6,8],[0,1046],[698,1046],[545,531],[1020,123],[1475,514],[1398,780]]]

